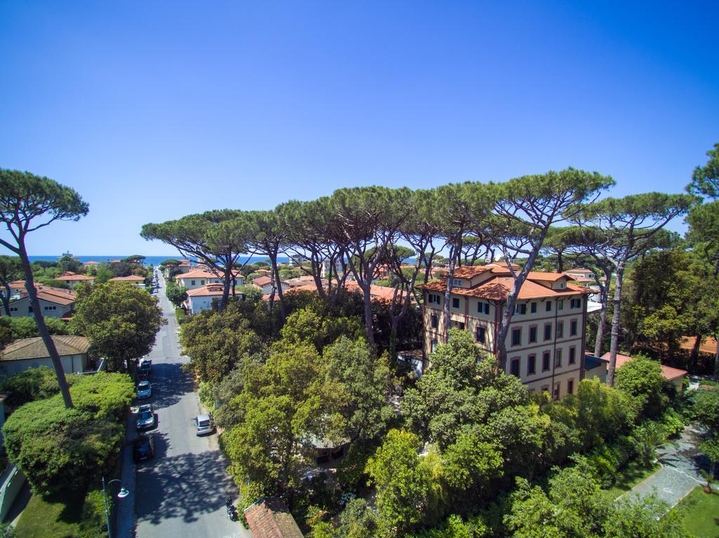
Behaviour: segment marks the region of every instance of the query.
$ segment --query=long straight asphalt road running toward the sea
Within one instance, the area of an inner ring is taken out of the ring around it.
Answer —
[[[168,325],[160,329],[152,358],[152,405],[157,413],[155,459],[137,468],[137,537],[251,538],[226,516],[224,499],[235,493],[216,435],[196,437],[191,420],[199,403],[190,377],[180,370],[175,312],[161,280],[157,292]]]

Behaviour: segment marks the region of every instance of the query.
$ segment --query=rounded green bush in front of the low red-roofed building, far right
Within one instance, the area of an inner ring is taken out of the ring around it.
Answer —
[[[618,368],[615,386],[629,398],[632,409],[641,418],[659,417],[669,404],[661,366],[645,356],[634,356]]]

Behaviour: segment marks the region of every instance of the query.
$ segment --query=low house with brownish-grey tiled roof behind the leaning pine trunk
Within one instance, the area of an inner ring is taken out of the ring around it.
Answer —
[[[52,337],[60,355],[65,374],[76,374],[88,369],[90,340],[84,336],[55,335]],[[21,338],[6,345],[0,351],[0,374],[12,376],[29,368],[48,366],[52,368],[50,353],[42,338]]]

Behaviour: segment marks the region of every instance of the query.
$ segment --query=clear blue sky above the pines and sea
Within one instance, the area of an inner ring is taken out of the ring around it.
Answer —
[[[719,2],[4,1],[0,167],[90,214],[30,254],[349,185],[574,166],[678,192],[719,142]],[[679,226],[679,225],[677,225]]]

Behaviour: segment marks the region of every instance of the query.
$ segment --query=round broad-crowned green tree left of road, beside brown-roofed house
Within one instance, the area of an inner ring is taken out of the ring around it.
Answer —
[[[157,299],[145,290],[109,283],[78,294],[71,323],[90,339],[93,352],[108,360],[111,371],[120,371],[150,353],[165,320]]]

